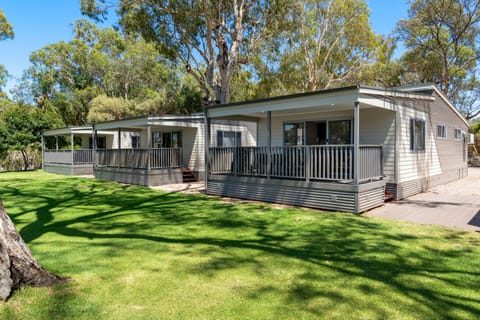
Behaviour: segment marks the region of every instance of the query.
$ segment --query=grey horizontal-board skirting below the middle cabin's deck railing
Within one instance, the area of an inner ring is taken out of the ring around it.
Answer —
[[[166,169],[129,169],[114,167],[94,168],[95,178],[117,181],[127,184],[138,184],[142,186],[160,186],[170,183],[182,183],[182,170],[180,168]]]

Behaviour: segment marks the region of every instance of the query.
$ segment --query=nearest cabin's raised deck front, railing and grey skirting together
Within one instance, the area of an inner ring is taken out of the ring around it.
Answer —
[[[382,147],[213,147],[208,194],[360,213],[384,203]]]

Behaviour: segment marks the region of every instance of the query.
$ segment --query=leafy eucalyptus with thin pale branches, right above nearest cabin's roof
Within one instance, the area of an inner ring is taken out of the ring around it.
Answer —
[[[299,92],[357,82],[383,41],[369,14],[363,0],[293,1],[264,51],[262,85]]]

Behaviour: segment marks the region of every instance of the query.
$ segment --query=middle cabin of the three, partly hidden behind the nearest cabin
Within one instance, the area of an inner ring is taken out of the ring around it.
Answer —
[[[120,139],[111,148],[95,148],[94,175],[147,186],[203,180],[204,123],[203,115],[148,116],[97,123],[95,132],[115,133]],[[256,141],[256,126],[242,121],[215,121],[212,132],[215,143],[222,146],[249,146]]]

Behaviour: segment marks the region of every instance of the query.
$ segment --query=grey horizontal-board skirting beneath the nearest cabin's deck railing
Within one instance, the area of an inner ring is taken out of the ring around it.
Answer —
[[[383,205],[384,192],[384,181],[354,186],[221,175],[210,176],[206,190],[211,195],[354,213]]]

